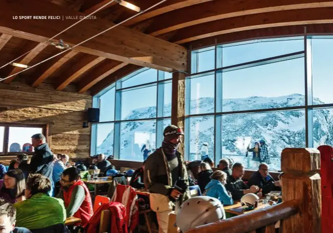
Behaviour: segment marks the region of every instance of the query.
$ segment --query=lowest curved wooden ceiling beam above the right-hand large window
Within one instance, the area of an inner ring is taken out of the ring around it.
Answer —
[[[333,23],[333,8],[310,8],[252,14],[215,20],[176,31],[171,38],[176,44],[221,34],[291,25]],[[161,35],[162,36],[162,35]]]

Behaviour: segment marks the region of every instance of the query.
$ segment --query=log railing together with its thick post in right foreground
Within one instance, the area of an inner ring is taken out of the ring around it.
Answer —
[[[284,149],[282,203],[195,227],[186,233],[320,233],[320,154],[316,149]]]

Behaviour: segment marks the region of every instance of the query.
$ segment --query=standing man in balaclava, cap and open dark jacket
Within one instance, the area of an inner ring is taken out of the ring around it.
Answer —
[[[189,198],[186,166],[177,151],[183,135],[177,126],[167,126],[162,146],[145,163],[145,186],[150,189],[150,205],[156,212],[160,233],[167,233],[171,211]]]

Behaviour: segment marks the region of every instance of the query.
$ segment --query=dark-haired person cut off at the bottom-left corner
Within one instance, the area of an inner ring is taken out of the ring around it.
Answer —
[[[15,227],[16,209],[4,199],[0,199],[0,232],[1,233],[31,233],[23,227]]]

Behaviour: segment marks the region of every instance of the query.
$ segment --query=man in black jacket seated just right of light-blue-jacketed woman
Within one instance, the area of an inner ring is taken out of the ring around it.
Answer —
[[[231,193],[233,200],[240,200],[245,194],[255,194],[259,187],[252,185],[249,187],[243,180],[245,168],[242,163],[234,163],[232,174],[227,178],[226,189]]]

